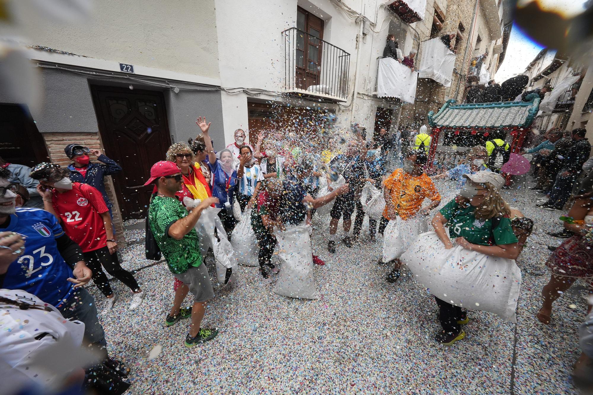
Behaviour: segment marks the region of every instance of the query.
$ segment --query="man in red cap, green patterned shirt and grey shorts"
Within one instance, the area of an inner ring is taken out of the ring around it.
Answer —
[[[206,311],[206,301],[214,297],[212,283],[198,249],[197,233],[194,228],[200,214],[217,198],[205,199],[191,212],[175,196],[181,190],[181,171],[176,164],[160,161],[152,165],[150,179],[144,185],[154,183],[157,193],[152,195],[148,208],[148,222],[154,239],[167,260],[173,276],[183,282],[175,291],[175,299],[165,324],[171,326],[182,318],[192,317],[192,326],[186,336],[186,347],[208,342],[218,335],[216,329],[200,328]],[[181,308],[187,292],[194,295],[193,307]]]

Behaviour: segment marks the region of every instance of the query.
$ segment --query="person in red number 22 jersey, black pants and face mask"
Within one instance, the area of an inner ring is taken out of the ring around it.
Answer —
[[[113,308],[117,295],[101,266],[132,290],[129,310],[134,310],[144,300],[145,291],[119,263],[113,224],[103,196],[88,184],[73,183],[69,175],[70,170],[52,163],[40,163],[30,174],[41,183],[37,190],[45,211],[55,215],[68,237],[81,247],[84,260],[93,271],[93,282],[107,298],[107,310]]]

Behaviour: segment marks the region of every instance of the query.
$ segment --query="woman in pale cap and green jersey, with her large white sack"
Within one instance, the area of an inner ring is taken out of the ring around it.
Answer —
[[[508,218],[511,209],[499,193],[504,177],[491,171],[464,177],[468,181],[461,195],[432,219],[435,231],[420,235],[402,256],[417,280],[435,295],[442,326],[435,340],[445,346],[466,336],[461,325],[469,319],[461,305],[476,310],[498,309],[505,313],[506,320],[516,320],[521,282],[521,270],[514,262],[519,249]],[[487,276],[487,270],[496,274]],[[483,281],[482,275],[487,280]],[[467,298],[460,296],[466,294]],[[488,297],[505,303],[492,307],[479,299]],[[474,303],[476,300],[482,303]]]

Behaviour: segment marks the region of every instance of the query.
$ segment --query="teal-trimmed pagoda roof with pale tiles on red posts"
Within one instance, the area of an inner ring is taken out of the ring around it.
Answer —
[[[447,100],[438,113],[428,113],[428,123],[438,128],[527,128],[540,107],[539,95],[528,95],[530,101],[454,104]]]

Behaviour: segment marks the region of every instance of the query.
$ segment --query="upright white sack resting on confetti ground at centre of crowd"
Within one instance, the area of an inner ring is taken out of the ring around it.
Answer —
[[[286,225],[285,231],[276,230],[280,276],[274,292],[289,298],[317,299],[313,281],[313,253],[309,238],[310,225]]]

